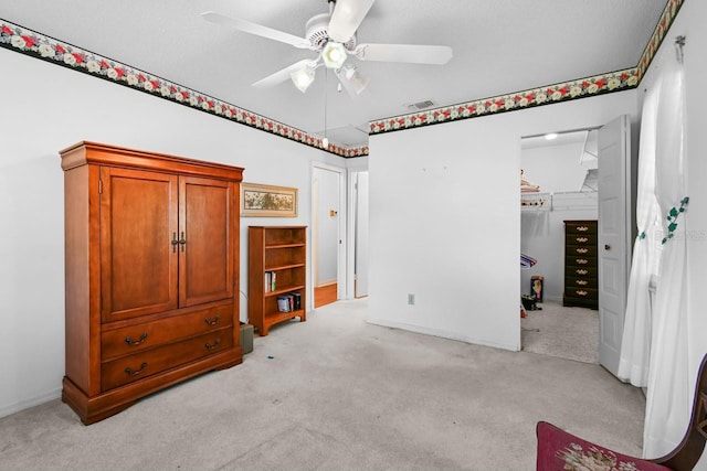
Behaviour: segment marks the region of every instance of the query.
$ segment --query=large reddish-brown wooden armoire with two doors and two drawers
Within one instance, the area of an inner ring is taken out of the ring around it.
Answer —
[[[243,360],[243,169],[78,142],[62,150],[62,399],[88,425]]]

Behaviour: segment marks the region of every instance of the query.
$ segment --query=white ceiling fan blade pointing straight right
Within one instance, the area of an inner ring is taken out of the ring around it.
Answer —
[[[452,58],[452,47],[415,44],[359,44],[355,54],[361,61],[441,65]]]

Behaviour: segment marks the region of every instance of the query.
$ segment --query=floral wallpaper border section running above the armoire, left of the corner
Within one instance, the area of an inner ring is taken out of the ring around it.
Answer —
[[[191,108],[210,113],[245,126],[284,137],[340,157],[368,156],[368,146],[345,148],[329,143],[300,129],[275,121],[235,105],[183,87],[165,78],[101,56],[0,19],[0,47],[6,47],[119,85],[145,92]]]

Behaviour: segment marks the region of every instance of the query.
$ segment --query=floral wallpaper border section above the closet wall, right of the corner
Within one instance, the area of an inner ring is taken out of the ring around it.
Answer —
[[[648,45],[643,51],[639,65],[623,71],[593,77],[580,78],[560,84],[531,88],[523,92],[476,99],[457,105],[437,107],[418,113],[393,116],[369,122],[369,135],[412,129],[440,122],[476,118],[504,111],[550,105],[570,99],[587,98],[612,92],[635,88],[655,56],[665,33],[675,20],[685,0],[669,0],[661,14]]]

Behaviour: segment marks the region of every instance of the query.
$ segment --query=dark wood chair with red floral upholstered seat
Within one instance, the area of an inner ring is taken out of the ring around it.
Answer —
[[[629,457],[582,440],[567,431],[539,421],[537,425],[538,471],[619,470],[688,471],[695,468],[707,439],[707,355],[697,375],[693,417],[683,441],[668,454],[653,460]]]

